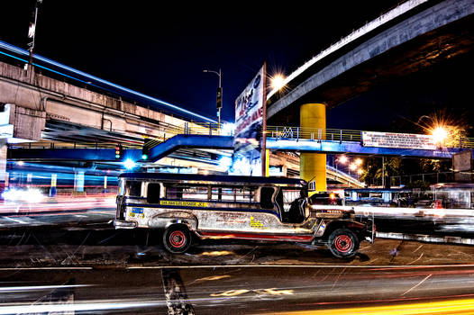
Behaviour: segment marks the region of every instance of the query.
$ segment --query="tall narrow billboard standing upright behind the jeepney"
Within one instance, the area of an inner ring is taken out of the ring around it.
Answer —
[[[235,100],[232,175],[261,176],[265,168],[266,66]]]

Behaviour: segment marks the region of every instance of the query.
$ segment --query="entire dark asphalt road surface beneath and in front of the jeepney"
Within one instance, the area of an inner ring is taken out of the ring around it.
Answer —
[[[378,238],[344,260],[209,239],[171,255],[159,232],[114,230],[100,212],[21,216],[59,224],[0,232],[0,314],[474,312],[474,247]]]

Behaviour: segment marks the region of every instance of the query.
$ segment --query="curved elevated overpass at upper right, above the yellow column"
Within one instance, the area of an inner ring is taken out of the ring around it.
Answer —
[[[287,77],[287,92],[271,91],[269,124],[297,126],[301,104],[332,108],[389,80],[471,51],[473,13],[472,0],[400,4],[297,68]]]

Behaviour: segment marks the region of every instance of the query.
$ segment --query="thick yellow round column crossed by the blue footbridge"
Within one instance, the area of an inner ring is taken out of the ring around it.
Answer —
[[[299,109],[299,125],[301,132],[314,132],[314,139],[318,133],[326,139],[326,105],[324,103],[305,103]],[[318,129],[321,129],[318,132]],[[321,153],[302,152],[299,160],[300,177],[306,181],[314,178],[316,191],[325,192],[326,187],[326,155]]]

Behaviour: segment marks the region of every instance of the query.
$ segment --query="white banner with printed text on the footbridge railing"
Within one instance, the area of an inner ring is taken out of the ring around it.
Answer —
[[[362,145],[378,148],[435,149],[433,136],[414,133],[362,131]]]

